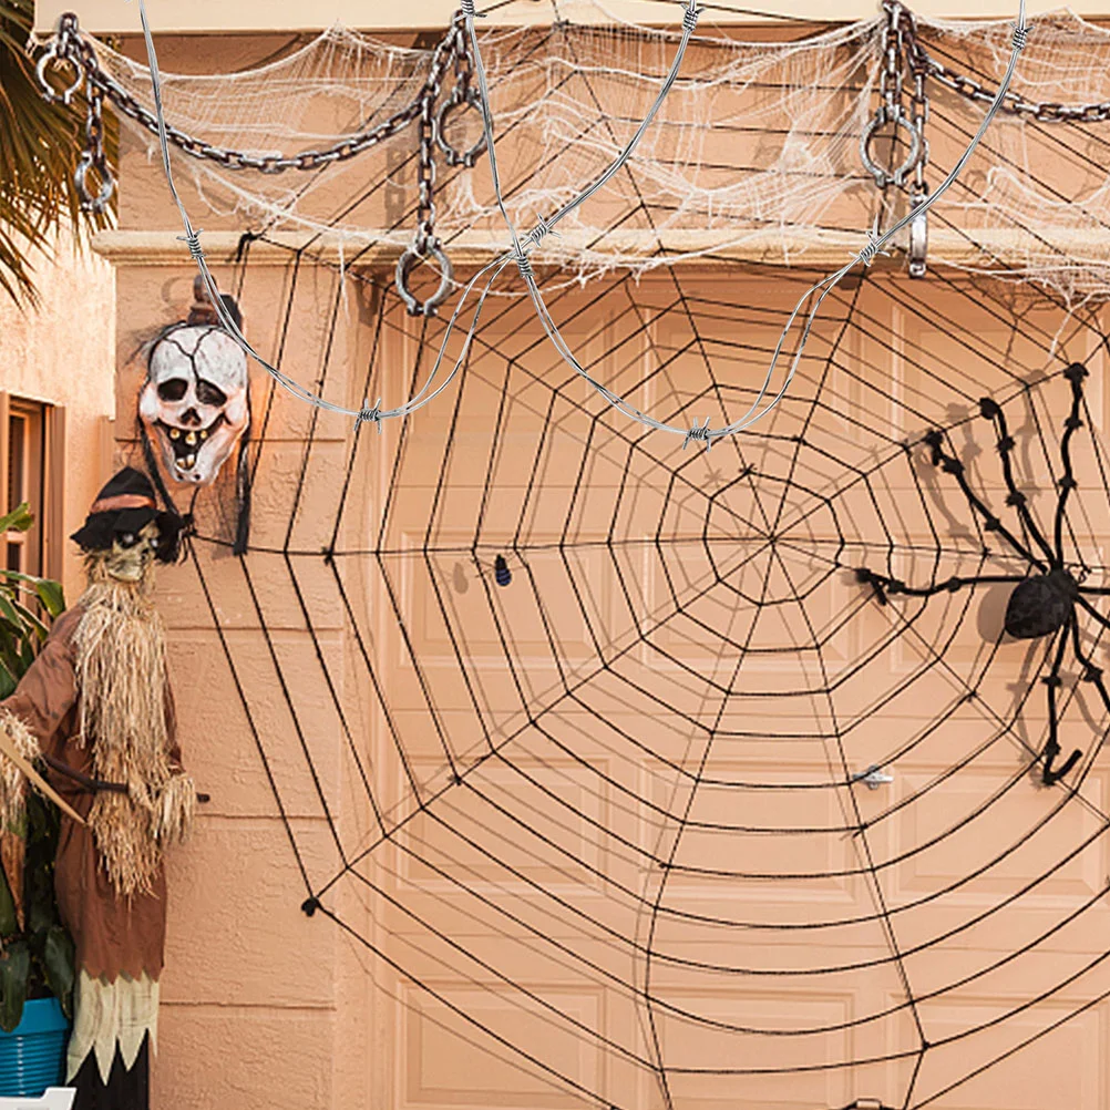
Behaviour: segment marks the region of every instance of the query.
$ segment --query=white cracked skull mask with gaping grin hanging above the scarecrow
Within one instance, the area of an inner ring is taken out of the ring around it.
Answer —
[[[150,352],[139,415],[158,442],[170,477],[209,485],[251,418],[246,355],[219,325],[196,290],[189,320],[169,329]],[[228,297],[233,316],[239,312]]]

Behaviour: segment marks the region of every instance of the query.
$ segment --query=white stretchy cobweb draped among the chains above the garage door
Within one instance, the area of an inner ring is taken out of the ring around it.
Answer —
[[[650,105],[677,43],[673,32],[576,22],[598,16],[583,2],[561,6],[559,14],[562,21],[551,27],[481,36],[507,209],[522,229],[616,158]],[[743,30],[715,28],[712,14],[702,16],[678,80],[629,172],[577,210],[561,238],[548,236],[538,262],[558,264],[564,275],[586,275],[614,266],[644,272],[666,260],[736,251],[800,262],[815,250],[835,250],[847,260],[860,249],[861,229],[876,215],[877,190],[861,165],[859,138],[877,105],[885,19],[805,33],[794,42],[753,43],[737,40]],[[988,92],[997,88],[1010,54],[1010,23],[919,18],[917,26],[930,59],[977,79]],[[145,67],[105,47],[98,54],[149,107]],[[289,57],[243,73],[164,73],[167,118],[201,141],[254,154],[326,149],[417,99],[431,54],[333,28]],[[1030,22],[1012,92],[1036,103],[1104,105],[1108,63],[1107,31],[1068,13],[1039,17]],[[986,102],[936,79],[926,85],[927,175],[936,185],[967,145]],[[444,98],[450,90],[448,78]],[[457,148],[477,139],[477,112],[448,119]],[[930,260],[1047,281],[1068,294],[1102,295],[1110,222],[1103,131],[1003,114],[934,212]],[[135,134],[153,152],[153,135],[142,129]],[[360,252],[411,242],[415,149],[410,125],[351,161],[310,173],[232,171],[180,153],[175,164],[213,210],[269,232],[319,233],[341,242],[346,259],[357,262]],[[897,214],[905,210],[894,196],[890,206]],[[887,213],[882,223],[890,222]],[[475,171],[440,165],[436,230],[448,253],[503,249],[484,159]]]

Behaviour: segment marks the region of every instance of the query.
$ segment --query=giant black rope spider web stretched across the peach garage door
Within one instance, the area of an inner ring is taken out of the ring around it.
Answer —
[[[290,305],[320,297],[299,261]],[[250,324],[274,268],[241,276]],[[736,307],[735,274],[674,269],[557,305],[591,366],[693,423],[746,403],[809,280],[756,271],[764,306]],[[325,393],[403,390],[395,367],[415,379],[438,344],[442,323],[372,279],[326,295]],[[369,350],[343,337],[351,300]],[[422,1020],[574,1104],[684,1107],[722,1082],[737,1104],[990,1091],[1110,993],[1104,715],[1066,666],[1061,736],[1084,759],[1039,787],[1051,660],[1006,640],[1005,596],[879,607],[854,572],[1025,573],[926,437],[944,428],[1001,505],[995,397],[1050,513],[1062,373],[1099,367],[1096,317],[999,283],[867,278],[789,397],[707,453],[587,393],[528,311],[498,302],[451,402],[398,428],[336,430],[270,394],[250,553],[202,515],[182,573],[222,649],[208,680],[238,689],[299,900]],[[1066,509],[1091,583],[1099,398]],[[1101,625],[1080,628],[1100,655]],[[869,790],[869,768],[892,783]]]

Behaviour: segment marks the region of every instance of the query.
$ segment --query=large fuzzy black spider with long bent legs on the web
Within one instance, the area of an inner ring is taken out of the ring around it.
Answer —
[[[1025,525],[1027,543],[1022,543],[1006,525],[988,508],[968,485],[963,464],[944,450],[944,435],[940,431],[929,432],[925,443],[932,452],[932,464],[939,466],[946,474],[956,478],[963,496],[972,512],[982,518],[985,532],[995,532],[1018,554],[1029,563],[1029,571],[1023,575],[977,575],[975,577],[952,577],[947,582],[927,587],[907,586],[897,578],[876,574],[867,567],[856,571],[858,582],[866,583],[875,591],[875,596],[881,605],[887,604],[890,594],[907,594],[912,597],[930,597],[945,591],[956,593],[963,586],[976,586],[982,583],[1012,582],[1013,593],[1006,606],[1006,632],[1017,639],[1039,639],[1042,636],[1054,637],[1051,648],[1052,665],[1042,679],[1048,687],[1048,740],[1038,757],[1042,761],[1042,779],[1046,786],[1051,786],[1067,775],[1082,758],[1082,751],[1074,750],[1064,760],[1063,766],[1054,768],[1060,744],[1057,737],[1057,690],[1060,683],[1060,668],[1063,654],[1071,640],[1072,652],[1082,664],[1084,682],[1091,683],[1099,692],[1102,704],[1110,712],[1110,694],[1102,680],[1102,669],[1094,666],[1090,657],[1083,653],[1079,642],[1079,622],[1076,619],[1076,606],[1084,609],[1091,617],[1106,628],[1110,628],[1110,619],[1102,616],[1089,601],[1090,597],[1110,595],[1110,587],[1086,586],[1082,578],[1077,578],[1069,569],[1063,552],[1064,509],[1068,496],[1076,488],[1076,478],[1071,464],[1071,437],[1082,427],[1079,413],[1083,402],[1083,379],[1087,367],[1081,363],[1072,363],[1063,376],[1071,383],[1071,412],[1063,422],[1063,435],[1060,438],[1060,461],[1063,465],[1063,476],[1059,481],[1059,496],[1056,503],[1052,542],[1045,537],[1036,518],[1029,509],[1027,498],[1018,490],[1013,481],[1013,467],[1010,452],[1015,447],[1006,425],[1006,416],[997,402],[983,397],[979,402],[979,412],[993,423],[997,434],[998,453],[1002,460],[1002,477],[1008,495],[1006,504],[1017,511]]]

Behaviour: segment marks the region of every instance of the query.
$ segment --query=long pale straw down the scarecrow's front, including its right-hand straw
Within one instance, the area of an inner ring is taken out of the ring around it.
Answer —
[[[162,862],[163,836],[184,836],[192,780],[173,775],[167,728],[165,633],[148,566],[134,583],[109,573],[108,553],[87,556],[89,587],[74,636],[81,692],[80,743],[97,778],[125,783],[102,790],[89,824],[109,878],[124,896],[149,894]]]

